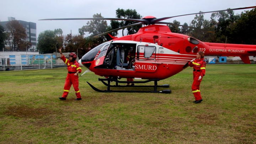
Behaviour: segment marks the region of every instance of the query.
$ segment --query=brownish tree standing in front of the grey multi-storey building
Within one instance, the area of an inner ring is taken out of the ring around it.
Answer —
[[[10,50],[18,50],[18,46],[22,46],[27,41],[26,29],[17,20],[12,20],[6,23],[7,28],[7,40],[5,40],[9,46]]]

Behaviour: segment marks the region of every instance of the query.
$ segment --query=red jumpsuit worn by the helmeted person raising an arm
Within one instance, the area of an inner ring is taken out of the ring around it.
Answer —
[[[63,98],[66,98],[69,93],[69,89],[71,85],[73,84],[73,87],[75,89],[76,98],[81,98],[80,90],[78,88],[79,82],[78,82],[78,75],[74,76],[74,74],[79,71],[79,73],[82,72],[82,69],[77,61],[71,62],[70,60],[66,59],[65,56],[60,57],[66,65],[68,66],[68,75],[66,77],[65,85],[64,85],[64,92],[62,94]]]

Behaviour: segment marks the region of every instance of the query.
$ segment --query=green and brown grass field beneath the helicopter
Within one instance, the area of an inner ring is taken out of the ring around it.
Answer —
[[[66,73],[0,72],[0,144],[256,143],[254,64],[207,65],[201,104],[192,103],[192,68],[159,81],[171,94],[99,93],[86,81],[106,86],[86,73],[79,77],[81,101],[73,87],[59,100]]]

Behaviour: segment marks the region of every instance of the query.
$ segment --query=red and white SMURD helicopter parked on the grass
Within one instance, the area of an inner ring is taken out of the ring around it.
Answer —
[[[228,10],[251,9],[255,7],[256,6]],[[191,13],[187,15],[210,12]],[[239,56],[244,63],[250,63],[249,56],[256,56],[256,45],[202,42],[188,35],[172,33],[168,26],[159,25],[170,24],[161,21],[173,17],[178,16],[164,18],[146,16],[142,19],[60,18],[44,20],[122,20],[138,22],[97,36],[105,35],[118,31],[119,29],[124,29],[139,24],[146,25],[145,27],[140,28],[135,34],[126,35],[119,38],[112,37],[113,40],[96,46],[79,60],[81,66],[88,68],[86,72],[92,71],[98,76],[105,77],[99,78],[98,80],[107,86],[107,90],[97,89],[87,82],[92,89],[96,90],[97,92],[171,93],[171,90],[158,91],[157,87],[167,88],[169,85],[158,85],[157,82],[162,79],[169,78],[187,68],[188,61],[195,59],[198,51],[204,52],[205,56]],[[131,51],[134,51],[135,57],[131,62],[128,62],[126,57]],[[133,82],[119,81],[118,79],[121,78],[139,78],[147,80]],[[107,83],[105,81],[107,81]],[[119,85],[118,83],[147,83],[151,81],[154,81],[154,85],[133,85],[131,87],[154,87],[154,90],[110,89],[110,87],[127,87],[125,85]],[[116,82],[116,84],[111,85],[111,82]]]

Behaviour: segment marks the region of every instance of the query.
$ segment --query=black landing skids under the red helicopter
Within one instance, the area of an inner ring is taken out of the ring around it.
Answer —
[[[157,85],[157,81],[159,81],[159,79],[149,79],[147,81],[118,81],[117,79],[98,79],[99,81],[101,81],[103,84],[105,84],[107,86],[107,90],[100,90],[97,89],[96,87],[94,87],[93,85],[91,85],[89,82],[87,82],[90,87],[92,89],[94,89],[97,92],[124,92],[124,93],[171,93],[171,90],[166,89],[166,90],[162,90],[162,91],[158,91],[156,88],[157,87],[162,87],[162,88],[169,88],[170,85],[169,84],[164,84],[164,85]],[[104,82],[104,81],[108,81],[108,83]],[[116,82],[116,85],[110,85],[110,82]],[[118,83],[148,83],[154,81],[154,85],[118,85]],[[154,90],[110,90],[110,87],[154,87]]]

